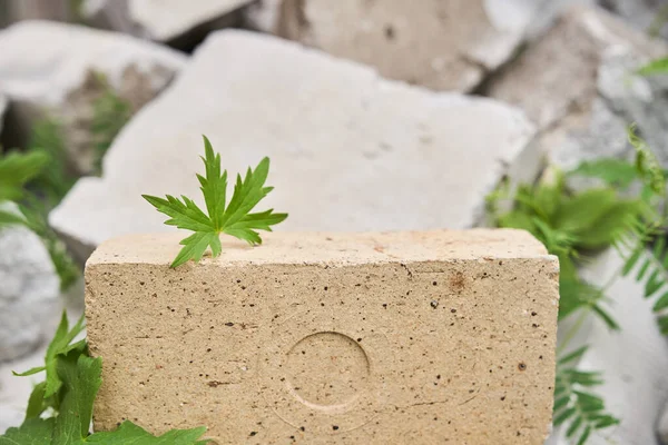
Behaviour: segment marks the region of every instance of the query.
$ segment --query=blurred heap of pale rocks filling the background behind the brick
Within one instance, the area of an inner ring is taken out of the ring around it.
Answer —
[[[53,155],[45,233],[0,230],[0,432],[96,246],[171,229],[141,194],[198,195],[200,135],[230,171],[272,158],[279,229],[480,226],[502,180],[630,157],[630,122],[668,165],[668,79],[635,75],[667,21],[664,0],[0,0],[0,142]],[[623,330],[587,329],[622,418],[592,444],[659,444],[668,348],[628,285]]]

